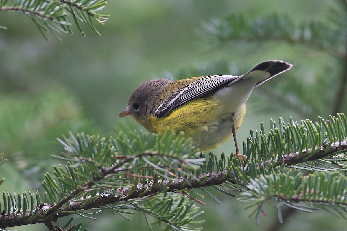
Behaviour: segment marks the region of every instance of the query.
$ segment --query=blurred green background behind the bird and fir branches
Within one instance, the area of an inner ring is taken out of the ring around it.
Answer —
[[[259,129],[261,121],[269,128],[270,118],[277,121],[282,116],[285,122],[289,116],[298,121],[316,120],[319,115],[327,118],[344,70],[338,57],[285,41],[216,45],[206,42],[201,32],[203,25],[233,12],[251,18],[276,12],[297,23],[313,19],[329,23],[329,9],[338,7],[338,1],[332,0],[115,0],[102,11],[111,15],[106,24],[96,25],[102,37],[82,25],[86,37],[74,27],[73,36],[60,34],[62,41],[49,36],[49,43],[24,14],[0,12],[0,25],[7,27],[0,29],[0,152],[8,159],[1,167],[0,178],[6,181],[0,190],[40,190],[43,174],[59,164],[51,157],[62,151],[56,137],[69,131],[107,137],[120,129],[140,129],[132,118],[117,116],[144,81],[192,77],[184,74],[220,62],[226,63],[230,73],[214,74],[242,74],[238,72],[269,59],[294,64],[286,74],[266,82],[267,88],[253,92],[237,132],[239,142],[247,139],[251,128]],[[286,82],[286,92],[278,90],[283,89],[281,82]],[[346,108],[344,100],[340,112]],[[214,152],[222,151],[235,151],[233,141]],[[344,230],[347,225],[346,220],[324,211],[289,211],[288,220],[278,226],[276,204],[270,202],[267,216],[256,226],[255,218],[248,218],[251,211],[244,210],[236,198],[211,192],[222,204],[205,198],[204,230]],[[76,219],[88,230],[150,230],[142,214],[131,217],[131,222],[109,211],[96,217],[98,221]]]

